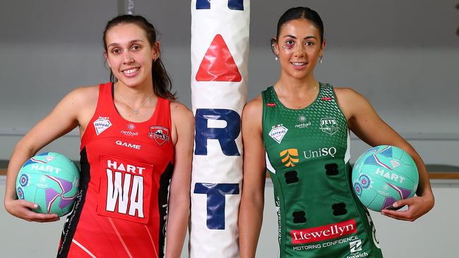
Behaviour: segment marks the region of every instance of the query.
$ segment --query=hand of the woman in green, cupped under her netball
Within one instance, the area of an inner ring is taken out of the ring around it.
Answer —
[[[403,207],[407,205],[408,209],[403,211],[393,211],[390,209],[383,209],[381,214],[391,217],[393,219],[399,219],[402,221],[415,221],[420,216],[430,211],[434,207],[434,195],[416,196],[408,199],[401,199],[400,201],[394,202],[392,206],[394,208]]]

